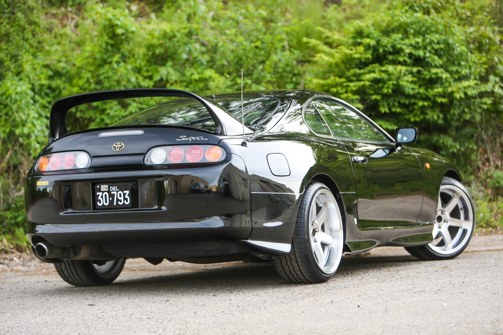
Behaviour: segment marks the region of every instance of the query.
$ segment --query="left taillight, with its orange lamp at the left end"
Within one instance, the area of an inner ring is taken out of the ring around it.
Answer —
[[[50,153],[38,158],[35,171],[60,171],[71,169],[86,169],[91,165],[91,157],[87,152],[70,151]]]

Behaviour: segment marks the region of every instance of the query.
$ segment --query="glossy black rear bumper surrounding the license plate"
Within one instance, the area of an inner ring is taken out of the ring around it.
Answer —
[[[94,183],[123,181],[137,188],[132,209],[93,210]],[[193,190],[196,183],[207,191]],[[32,244],[187,243],[247,239],[251,232],[246,167],[233,154],[220,165],[185,169],[30,174],[25,193]]]

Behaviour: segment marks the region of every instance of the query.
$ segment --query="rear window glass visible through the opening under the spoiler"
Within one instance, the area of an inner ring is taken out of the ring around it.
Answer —
[[[150,106],[110,126],[141,124],[193,126],[215,131],[210,112],[196,99],[176,99]]]

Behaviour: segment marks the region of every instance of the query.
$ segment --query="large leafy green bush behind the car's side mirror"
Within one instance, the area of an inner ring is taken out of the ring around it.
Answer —
[[[307,87],[353,101],[387,130],[416,126],[420,146],[469,170],[476,124],[499,104],[503,54],[489,10],[488,2],[411,2],[342,32],[320,28],[325,40],[306,39],[316,52]]]

